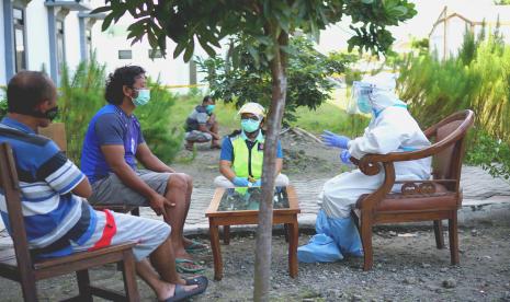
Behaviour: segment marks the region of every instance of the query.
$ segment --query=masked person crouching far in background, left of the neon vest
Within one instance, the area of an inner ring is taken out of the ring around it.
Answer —
[[[202,105],[196,106],[186,118],[185,125],[185,148],[193,151],[193,143],[211,141],[212,149],[219,149],[218,121],[214,115],[216,103],[214,98],[206,95],[202,100]]]

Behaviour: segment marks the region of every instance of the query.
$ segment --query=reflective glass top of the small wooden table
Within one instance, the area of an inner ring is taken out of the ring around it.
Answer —
[[[262,188],[229,188],[219,201],[218,211],[259,210]],[[288,195],[285,187],[276,187],[273,196],[273,209],[288,208]]]

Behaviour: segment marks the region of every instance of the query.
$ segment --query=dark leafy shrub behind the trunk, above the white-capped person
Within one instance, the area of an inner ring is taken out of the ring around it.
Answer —
[[[213,97],[226,103],[235,103],[240,107],[247,102],[258,102],[269,107],[271,102],[271,73],[267,66],[253,59],[250,46],[241,44],[240,56],[229,56],[227,59],[218,57],[204,61],[197,60],[201,71],[208,76]],[[305,37],[291,39],[290,49],[293,56],[288,57],[287,66],[287,97],[285,104],[284,123],[296,119],[296,108],[306,106],[316,109],[324,101],[329,98],[333,83],[328,77],[341,73],[348,63],[354,61],[356,56],[335,54],[325,56],[314,49],[311,42]],[[238,54],[238,51],[234,51]]]

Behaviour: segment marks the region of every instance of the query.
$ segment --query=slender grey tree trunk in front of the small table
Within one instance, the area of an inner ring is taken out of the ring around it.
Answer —
[[[285,73],[286,56],[280,50],[280,45],[287,45],[288,35],[282,33],[279,44],[275,45],[275,57],[271,61],[272,100],[269,117],[265,123],[267,135],[264,142],[264,161],[262,169],[262,200],[259,210],[259,225],[257,228],[256,267],[253,300],[269,301],[271,280],[271,237],[273,229],[273,194],[276,147],[279,133],[282,128],[283,111],[287,90]]]

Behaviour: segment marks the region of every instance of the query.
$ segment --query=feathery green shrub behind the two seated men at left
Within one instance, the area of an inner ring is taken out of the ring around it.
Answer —
[[[70,76],[63,69],[57,121],[66,124],[68,156],[79,164],[89,121],[106,104],[104,100],[105,66],[94,58],[81,62]],[[170,129],[171,106],[175,97],[158,82],[149,79],[151,101],[136,109],[144,138],[152,152],[163,162],[171,162],[180,148],[182,135]]]

